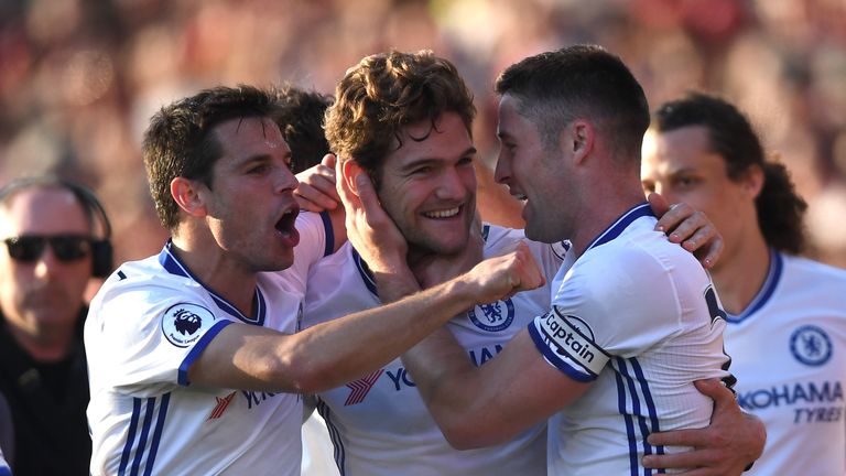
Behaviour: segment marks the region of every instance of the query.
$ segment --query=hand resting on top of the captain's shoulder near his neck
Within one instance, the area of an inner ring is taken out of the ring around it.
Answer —
[[[651,193],[649,205],[659,218],[655,230],[670,237],[670,241],[680,242],[687,251],[691,251],[702,263],[709,269],[719,259],[723,252],[723,237],[703,212],[693,209],[684,203],[666,203],[666,199]]]

